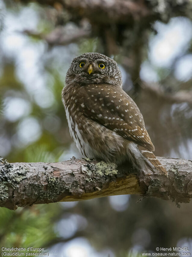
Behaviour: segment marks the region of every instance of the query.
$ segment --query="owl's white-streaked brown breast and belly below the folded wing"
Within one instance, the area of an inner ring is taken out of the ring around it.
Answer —
[[[83,157],[113,162],[117,155],[119,159],[126,156],[127,141],[124,138],[72,107],[65,107],[66,117],[71,137]]]

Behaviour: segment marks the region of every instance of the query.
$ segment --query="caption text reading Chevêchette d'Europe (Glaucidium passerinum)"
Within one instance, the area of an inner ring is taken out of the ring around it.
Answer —
[[[44,248],[34,248],[34,247],[11,247],[1,248],[2,256],[49,256],[49,252],[45,251]]]

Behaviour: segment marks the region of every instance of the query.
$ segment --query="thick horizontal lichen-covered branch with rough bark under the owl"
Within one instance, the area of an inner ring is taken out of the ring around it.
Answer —
[[[129,163],[75,159],[58,163],[8,163],[0,159],[0,206],[11,210],[39,203],[80,201],[139,194],[188,203],[192,197],[192,161],[159,157],[168,177],[136,171]]]

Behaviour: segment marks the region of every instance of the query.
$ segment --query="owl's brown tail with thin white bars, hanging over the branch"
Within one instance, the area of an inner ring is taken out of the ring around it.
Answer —
[[[167,176],[167,171],[166,169],[163,167],[163,165],[160,163],[160,161],[157,159],[157,157],[153,154],[152,151],[147,150],[146,148],[139,146],[139,149],[141,151],[141,154],[151,163],[153,164],[153,166],[155,166],[155,168],[161,172],[162,174]],[[153,171],[153,168],[151,167],[151,165],[146,162],[147,166],[150,168],[150,170]]]

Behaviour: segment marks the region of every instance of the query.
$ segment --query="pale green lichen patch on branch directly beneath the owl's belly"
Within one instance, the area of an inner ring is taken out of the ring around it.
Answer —
[[[86,180],[89,182],[95,182],[96,177],[105,177],[117,174],[118,170],[116,168],[117,165],[115,163],[107,163],[104,161],[100,161],[97,164],[83,164],[81,166],[81,170],[87,173],[88,177]]]

